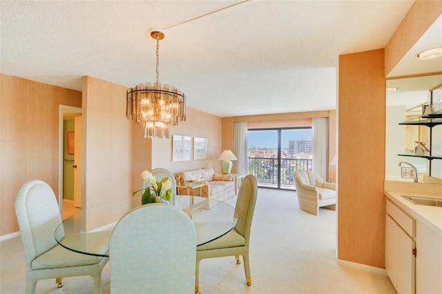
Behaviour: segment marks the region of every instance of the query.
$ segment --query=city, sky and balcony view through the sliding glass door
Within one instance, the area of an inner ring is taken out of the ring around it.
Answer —
[[[296,170],[311,170],[311,128],[253,129],[247,133],[247,168],[262,187],[295,189]]]

